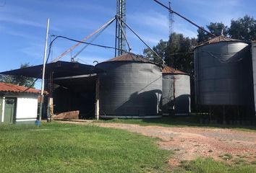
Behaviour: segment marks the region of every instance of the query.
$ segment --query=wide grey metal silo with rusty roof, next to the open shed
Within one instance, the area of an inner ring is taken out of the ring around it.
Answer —
[[[148,59],[124,53],[96,65],[101,117],[160,117],[162,68]]]

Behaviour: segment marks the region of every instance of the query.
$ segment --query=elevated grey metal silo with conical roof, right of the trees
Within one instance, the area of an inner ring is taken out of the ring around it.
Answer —
[[[197,46],[195,96],[198,105],[252,105],[249,46],[219,36]]]

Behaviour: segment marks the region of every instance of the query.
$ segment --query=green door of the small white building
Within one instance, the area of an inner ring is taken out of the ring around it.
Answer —
[[[4,105],[4,123],[14,123],[16,99],[11,97],[5,98]]]

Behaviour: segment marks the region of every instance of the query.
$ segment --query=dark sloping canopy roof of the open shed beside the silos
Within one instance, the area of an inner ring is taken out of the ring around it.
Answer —
[[[3,71],[0,74],[14,75],[14,76],[26,76],[33,78],[42,78],[43,65],[30,66],[27,68],[19,68],[11,71]],[[72,63],[66,61],[57,61],[56,63],[46,64],[46,79],[51,72],[54,73],[54,78],[64,76],[77,76],[82,74],[96,74],[103,72],[101,69],[95,66],[85,65],[82,63]]]

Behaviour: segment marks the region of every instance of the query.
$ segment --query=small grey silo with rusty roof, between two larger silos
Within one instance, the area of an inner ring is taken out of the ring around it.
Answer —
[[[169,66],[163,68],[163,115],[188,115],[190,112],[190,77]]]

